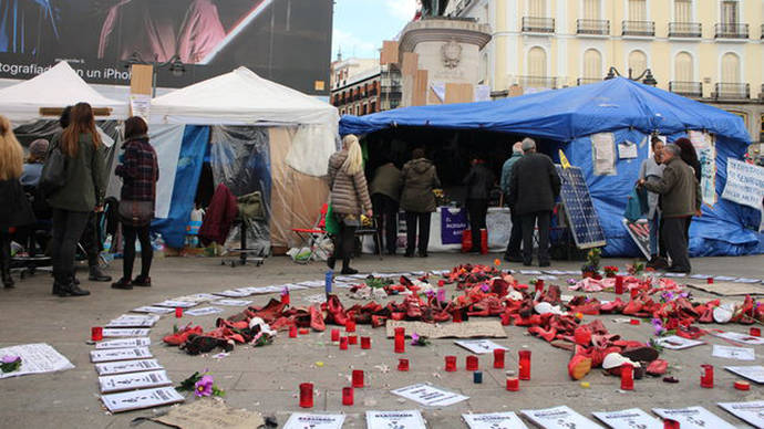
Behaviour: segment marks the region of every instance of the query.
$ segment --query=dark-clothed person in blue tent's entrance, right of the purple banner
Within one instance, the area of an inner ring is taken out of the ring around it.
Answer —
[[[494,187],[494,174],[486,167],[485,160],[474,157],[472,168],[462,181],[467,187],[467,212],[469,213],[469,229],[472,230],[473,253],[482,249],[481,230],[486,229],[485,218],[488,214],[488,197]],[[487,245],[487,243],[486,243]]]

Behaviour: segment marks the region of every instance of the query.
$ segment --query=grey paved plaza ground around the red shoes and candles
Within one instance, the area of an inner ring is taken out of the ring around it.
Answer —
[[[450,269],[458,263],[491,263],[495,254],[485,257],[461,254],[431,254],[427,259],[405,259],[363,257],[355,262],[361,272],[401,272],[417,270]],[[602,265],[623,268],[630,260],[603,260]],[[764,257],[704,258],[692,261],[695,272],[729,274],[746,278],[764,278]],[[136,263],[137,265],[137,263]],[[118,278],[122,261],[109,268],[109,273]],[[580,262],[555,262],[553,269],[576,270]],[[503,269],[517,264],[503,264]],[[311,263],[299,265],[288,258],[270,258],[262,266],[221,266],[219,259],[172,258],[155,261],[151,289],[117,291],[107,283],[83,282],[92,292],[91,296],[60,299],[52,296],[51,278],[37,273],[17,284],[14,290],[0,290],[0,347],[28,343],[48,343],[65,355],[75,369],[44,375],[30,375],[0,380],[0,427],[3,428],[126,428],[137,417],[153,416],[164,409],[138,410],[123,415],[109,415],[99,400],[96,374],[90,363],[90,327],[103,325],[110,320],[127,313],[131,308],[177,297],[190,293],[217,292],[231,287],[266,286],[307,280],[321,280],[326,265]],[[80,276],[85,278],[83,271]],[[528,279],[519,275],[519,280]],[[553,282],[555,283],[555,282]],[[562,286],[565,279],[557,284]],[[454,285],[448,286],[453,290]],[[564,287],[564,293],[571,294]],[[764,286],[758,286],[764,290]],[[292,305],[308,305],[304,300],[322,290],[297,291],[292,293]],[[345,306],[360,303],[339,291]],[[577,294],[577,293],[576,293]],[[596,294],[600,300],[612,297],[609,293]],[[694,296],[708,299],[710,295],[693,292]],[[254,305],[265,305],[275,296],[254,296]],[[399,299],[400,300],[400,299]],[[740,302],[742,299],[726,299]],[[241,308],[226,307],[224,316]],[[611,333],[628,339],[648,341],[652,335],[650,324],[632,326],[617,324],[619,316],[598,316]],[[711,357],[710,346],[700,346],[683,352],[665,350],[662,357],[669,360],[670,375],[680,383],[665,384],[661,378],[647,378],[636,383],[636,389],[619,391],[619,379],[605,376],[601,370],[592,370],[586,377],[590,384],[584,388],[571,381],[567,375],[569,353],[554,348],[539,338],[529,336],[523,327],[507,326],[507,337],[496,343],[509,348],[507,367],[517,367],[517,350],[533,350],[531,380],[522,385],[518,393],[504,389],[505,374],[491,368],[491,358],[481,357],[484,381],[473,384],[472,374],[464,370],[465,349],[453,344],[453,339],[433,341],[427,347],[406,347],[405,356],[411,360],[411,372],[395,370],[401,355],[393,353],[392,339],[386,339],[383,328],[372,329],[359,325],[360,335],[372,337],[372,348],[362,350],[351,346],[341,352],[329,341],[329,328],[324,333],[310,333],[297,339],[279,333],[272,345],[252,348],[237,346],[230,356],[213,359],[210,356],[188,356],[176,347],[162,344],[162,337],[172,332],[174,324],[194,322],[209,329],[216,316],[184,316],[177,321],[173,315],[163,318],[151,331],[152,352],[176,384],[195,370],[209,368],[216,383],[226,390],[226,401],[236,408],[257,410],[266,416],[275,416],[282,425],[292,411],[298,411],[297,391],[302,381],[312,381],[318,390],[313,412],[333,411],[348,415],[345,428],[365,428],[365,410],[416,409],[417,405],[402,400],[390,393],[391,389],[415,383],[432,383],[436,386],[462,393],[468,400],[443,409],[422,409],[430,428],[465,428],[460,415],[464,412],[518,411],[529,408],[547,408],[568,405],[575,410],[590,416],[591,411],[618,410],[639,407],[649,411],[653,407],[685,407],[700,405],[736,427],[747,427],[741,420],[716,407],[716,401],[744,401],[762,399],[763,387],[753,386],[747,393],[733,389],[737,377],[722,369],[724,365],[740,362]],[[590,322],[595,316],[586,316]],[[713,327],[713,325],[712,325]],[[742,327],[737,331],[743,331]],[[744,329],[747,329],[745,327]],[[711,344],[726,344],[715,337],[704,337]],[[757,347],[758,348],[758,347]],[[758,348],[757,364],[764,349]],[[443,357],[458,356],[460,370],[443,372]],[[322,362],[323,366],[317,366]],[[700,365],[716,367],[714,389],[699,386]],[[743,363],[741,365],[747,365]],[[390,372],[382,368],[389,367]],[[341,405],[341,388],[349,386],[351,369],[364,369],[368,387],[355,390],[355,406]],[[194,400],[194,399],[190,399]],[[530,425],[528,425],[530,427]],[[140,428],[159,427],[153,422],[142,422]]]

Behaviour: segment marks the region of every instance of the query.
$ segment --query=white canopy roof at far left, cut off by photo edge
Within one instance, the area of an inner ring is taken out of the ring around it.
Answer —
[[[110,119],[127,117],[127,103],[99,94],[65,61],[29,81],[0,90],[0,112],[17,123],[43,118],[41,107],[65,107],[81,102],[94,108],[111,107]]]

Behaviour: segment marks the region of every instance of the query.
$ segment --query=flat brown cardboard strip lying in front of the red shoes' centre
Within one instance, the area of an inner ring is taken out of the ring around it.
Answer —
[[[469,321],[464,323],[433,324],[424,322],[388,321],[388,338],[395,336],[396,327],[405,327],[406,336],[416,333],[427,338],[506,338],[507,333],[498,321]]]

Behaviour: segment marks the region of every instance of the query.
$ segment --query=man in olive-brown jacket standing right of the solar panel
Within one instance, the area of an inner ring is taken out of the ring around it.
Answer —
[[[692,167],[680,158],[681,149],[677,145],[668,145],[662,151],[662,163],[665,165],[663,177],[659,182],[639,180],[651,192],[660,193],[663,210],[663,228],[661,234],[671,257],[670,272],[689,273],[691,271],[688,242],[684,237],[684,226],[688,218],[700,213],[701,190]]]

